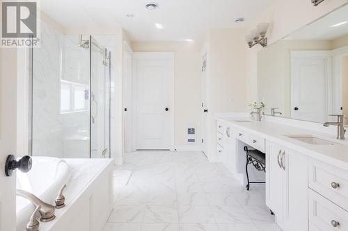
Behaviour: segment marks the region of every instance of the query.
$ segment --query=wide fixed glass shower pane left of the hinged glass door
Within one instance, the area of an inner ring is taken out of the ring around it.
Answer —
[[[63,35],[42,23],[42,44],[32,49],[29,153],[88,158],[90,146],[89,35]]]

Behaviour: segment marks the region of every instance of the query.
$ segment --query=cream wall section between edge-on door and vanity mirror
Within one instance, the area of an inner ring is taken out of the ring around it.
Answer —
[[[246,48],[244,28],[213,28],[207,37],[207,144],[208,158],[220,162],[216,153],[217,112],[245,112]],[[210,137],[209,137],[210,136]]]

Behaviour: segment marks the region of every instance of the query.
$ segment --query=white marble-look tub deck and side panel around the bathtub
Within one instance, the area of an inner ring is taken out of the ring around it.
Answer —
[[[65,207],[42,231],[102,230],[113,205],[113,160],[65,159],[72,176],[64,191]]]

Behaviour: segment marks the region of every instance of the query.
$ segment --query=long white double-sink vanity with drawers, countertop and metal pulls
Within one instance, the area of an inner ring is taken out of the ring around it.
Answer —
[[[223,164],[243,184],[244,145],[266,154],[266,205],[283,231],[348,231],[348,168],[332,158],[334,154],[346,160],[347,146],[322,148],[331,157],[327,160],[315,146],[292,143],[283,130],[296,134],[298,128],[284,127],[218,119],[217,146]],[[273,128],[281,133],[270,132]]]

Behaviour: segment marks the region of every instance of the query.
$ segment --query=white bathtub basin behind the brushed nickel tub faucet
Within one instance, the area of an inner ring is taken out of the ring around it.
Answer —
[[[17,189],[34,194],[46,203],[54,205],[59,189],[70,180],[70,166],[65,160],[54,157],[32,157],[33,166],[28,173],[17,171]],[[25,230],[34,206],[17,196],[17,230]]]

